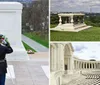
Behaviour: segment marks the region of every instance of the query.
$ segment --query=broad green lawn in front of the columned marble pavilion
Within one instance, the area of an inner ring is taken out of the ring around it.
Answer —
[[[80,32],[51,31],[51,41],[100,41],[100,27],[92,27]]]

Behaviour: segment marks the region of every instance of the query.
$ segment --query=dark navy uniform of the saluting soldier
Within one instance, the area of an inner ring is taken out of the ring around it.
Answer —
[[[0,35],[0,39],[2,35]],[[10,47],[9,43],[4,46],[0,44],[0,85],[5,85],[5,77],[7,73],[7,62],[6,54],[12,53],[13,49]]]

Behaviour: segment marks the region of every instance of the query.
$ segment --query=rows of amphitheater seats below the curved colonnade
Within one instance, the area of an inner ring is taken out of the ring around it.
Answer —
[[[85,73],[80,77],[67,83],[66,85],[100,85],[100,73]]]

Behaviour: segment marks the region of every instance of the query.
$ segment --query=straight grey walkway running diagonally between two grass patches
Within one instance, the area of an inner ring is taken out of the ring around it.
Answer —
[[[37,52],[48,52],[48,48],[44,47],[43,45],[37,43],[34,40],[22,35],[22,41],[28,44],[31,48],[35,49]]]

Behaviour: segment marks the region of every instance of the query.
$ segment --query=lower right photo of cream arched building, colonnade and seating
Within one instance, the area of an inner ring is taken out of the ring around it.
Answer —
[[[50,85],[99,85],[100,43],[50,44]]]

